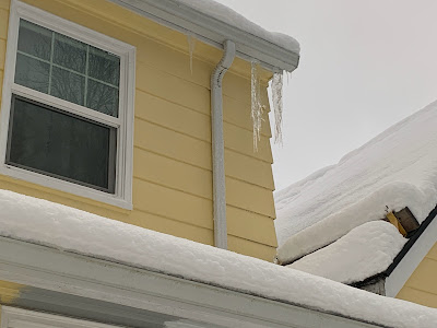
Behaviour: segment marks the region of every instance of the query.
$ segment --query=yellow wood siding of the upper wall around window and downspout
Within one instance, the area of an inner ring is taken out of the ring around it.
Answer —
[[[133,210],[0,176],[0,188],[48,199],[154,231],[213,244],[210,77],[222,51],[197,42],[190,72],[187,37],[105,0],[24,0],[137,47]],[[0,79],[9,0],[0,0]],[[267,86],[269,73],[262,72]],[[224,79],[229,249],[272,260],[272,152],[268,119],[252,150],[250,65],[236,59]]]

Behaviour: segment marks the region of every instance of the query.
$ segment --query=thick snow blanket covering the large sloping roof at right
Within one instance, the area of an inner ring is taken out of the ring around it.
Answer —
[[[437,102],[276,192],[279,260],[291,262],[387,211],[409,207],[422,223],[437,203],[436,126]]]

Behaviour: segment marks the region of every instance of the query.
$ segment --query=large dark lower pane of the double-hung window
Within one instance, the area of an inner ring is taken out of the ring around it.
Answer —
[[[8,164],[114,194],[115,132],[13,96]]]

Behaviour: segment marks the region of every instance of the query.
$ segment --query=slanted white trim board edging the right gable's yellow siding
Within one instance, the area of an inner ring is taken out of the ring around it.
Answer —
[[[437,242],[437,219],[434,219],[386,279],[386,296],[395,297],[414,270]]]

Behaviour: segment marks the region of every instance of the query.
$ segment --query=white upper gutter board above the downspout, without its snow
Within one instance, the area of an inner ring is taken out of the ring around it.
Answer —
[[[169,0],[110,0],[169,28],[223,49],[229,39],[236,45],[236,56],[251,61],[257,59],[270,71],[294,71],[299,55],[280,47],[253,34],[231,26],[187,5]]]

